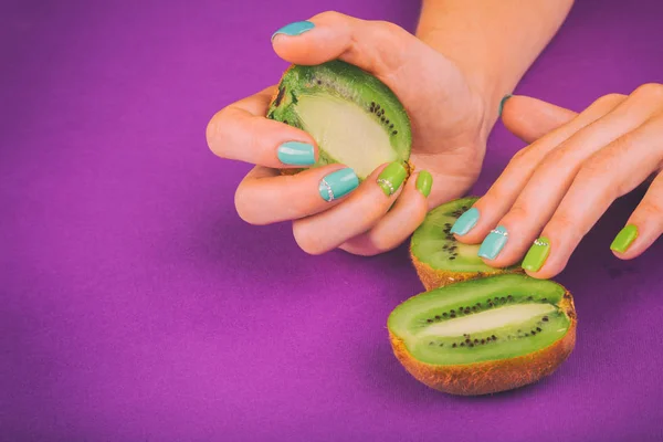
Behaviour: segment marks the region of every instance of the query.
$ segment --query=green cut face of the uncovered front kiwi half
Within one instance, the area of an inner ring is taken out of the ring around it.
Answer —
[[[526,275],[498,275],[414,296],[389,316],[389,330],[409,354],[457,366],[525,356],[569,330],[566,290]],[[571,314],[575,317],[575,314]]]

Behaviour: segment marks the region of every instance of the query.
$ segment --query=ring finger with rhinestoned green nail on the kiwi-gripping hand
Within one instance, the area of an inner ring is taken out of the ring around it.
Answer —
[[[385,217],[399,197],[406,175],[406,168],[399,162],[383,165],[373,171],[343,204],[294,221],[293,234],[297,244],[306,253],[320,254],[368,231]],[[380,179],[387,179],[391,186],[380,186],[378,182]]]

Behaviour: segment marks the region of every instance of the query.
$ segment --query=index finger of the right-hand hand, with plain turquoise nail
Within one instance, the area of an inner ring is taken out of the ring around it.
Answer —
[[[499,220],[512,209],[516,199],[532,178],[539,164],[559,145],[570,139],[576,133],[607,115],[625,98],[618,95],[607,95],[597,99],[587,109],[580,113],[570,123],[555,129],[518,151],[511,159],[499,178],[491,186],[488,191],[474,203],[478,219],[471,220],[472,224],[464,224],[467,217],[461,217],[452,228],[452,233],[459,241],[467,244],[482,242],[488,232],[494,229]],[[507,102],[508,104],[508,102]],[[562,166],[562,167],[566,167]],[[551,181],[555,182],[555,181]],[[547,183],[544,186],[545,190]],[[470,225],[470,229],[467,229]]]

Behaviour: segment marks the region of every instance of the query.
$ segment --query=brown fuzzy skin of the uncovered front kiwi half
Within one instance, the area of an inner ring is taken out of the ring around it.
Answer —
[[[406,370],[435,390],[456,396],[482,396],[513,390],[551,375],[576,346],[578,319],[571,294],[559,303],[570,318],[567,334],[540,350],[512,359],[467,365],[436,366],[414,359],[402,339],[389,330],[391,348]]]

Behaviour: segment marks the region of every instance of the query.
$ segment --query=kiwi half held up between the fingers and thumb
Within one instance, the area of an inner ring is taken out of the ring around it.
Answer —
[[[410,158],[412,134],[402,104],[378,78],[341,61],[288,67],[267,118],[315,139],[319,158],[314,167],[340,162],[360,180],[382,164]]]

